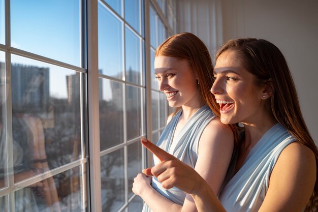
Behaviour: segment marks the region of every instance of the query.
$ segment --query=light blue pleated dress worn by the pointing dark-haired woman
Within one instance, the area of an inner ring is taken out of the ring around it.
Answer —
[[[234,175],[234,156],[225,187],[218,197],[227,212],[256,212],[269,186],[269,177],[282,150],[296,139],[280,124],[269,129],[250,150],[242,167]]]

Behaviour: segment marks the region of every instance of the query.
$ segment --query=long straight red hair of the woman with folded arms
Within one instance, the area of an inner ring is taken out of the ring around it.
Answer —
[[[185,59],[199,79],[201,99],[220,117],[219,104],[210,93],[213,84],[213,65],[206,45],[192,33],[180,33],[169,37],[156,49],[155,56],[171,56]],[[235,125],[230,125],[235,147],[238,145],[238,133]]]

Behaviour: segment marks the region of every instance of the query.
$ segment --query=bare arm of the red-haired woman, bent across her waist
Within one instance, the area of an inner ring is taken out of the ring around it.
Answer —
[[[231,129],[214,118],[204,129],[199,141],[199,154],[195,170],[207,181],[207,186],[218,193],[226,175],[233,152],[234,140]],[[139,174],[135,178],[135,192],[143,198],[153,211],[196,212],[193,198],[187,194],[183,206],[173,203],[157,193],[146,176]],[[138,189],[138,187],[140,189]],[[141,189],[142,188],[142,189]],[[133,189],[134,190],[134,189]]]

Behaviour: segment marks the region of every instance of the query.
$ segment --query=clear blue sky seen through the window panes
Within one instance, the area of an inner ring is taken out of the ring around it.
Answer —
[[[11,46],[81,67],[80,2],[80,0],[11,1]],[[118,14],[123,16],[121,11],[123,1],[106,0],[106,2],[113,6]],[[139,1],[129,0],[125,2],[126,19],[140,33]],[[0,0],[1,43],[5,42],[4,11],[4,0]],[[98,12],[99,69],[103,69],[104,74],[110,76],[122,73],[124,67],[123,58],[125,58],[126,69],[132,66],[133,70],[140,70],[142,68],[141,49],[137,49],[141,47],[139,45],[141,42],[139,36],[132,33],[132,31],[129,33],[130,29],[126,27],[126,36],[129,39],[129,42],[126,43],[126,50],[129,52],[124,57],[123,22],[115,18],[115,14],[105,7],[99,6]],[[49,67],[50,80],[55,82],[55,85],[50,83],[50,90],[52,92],[55,90],[60,97],[66,97],[65,77],[61,79],[62,76],[58,74],[61,68],[19,56],[13,56],[12,59],[12,63]],[[69,71],[65,71],[70,74]],[[62,83],[58,86],[59,88],[56,88],[57,82]],[[109,86],[107,87],[109,88]],[[103,92],[104,95],[107,93]]]

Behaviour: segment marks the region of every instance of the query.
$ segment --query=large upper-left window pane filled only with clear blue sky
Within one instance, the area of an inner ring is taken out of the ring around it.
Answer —
[[[11,45],[81,66],[80,1],[11,1]]]

